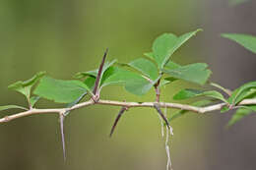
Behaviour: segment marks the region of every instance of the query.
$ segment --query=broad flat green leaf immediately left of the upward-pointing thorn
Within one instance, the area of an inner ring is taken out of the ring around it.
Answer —
[[[44,77],[40,80],[34,93],[55,102],[70,103],[87,91],[92,94],[91,88],[80,81],[63,81]]]

